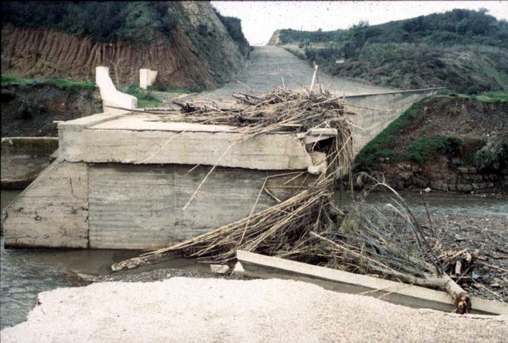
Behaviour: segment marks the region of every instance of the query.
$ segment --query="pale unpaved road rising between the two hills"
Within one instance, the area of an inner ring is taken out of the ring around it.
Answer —
[[[282,86],[281,75],[287,88],[296,91],[300,90],[302,85],[306,88],[311,86],[313,69],[307,62],[287,52],[282,47],[271,45],[254,47],[253,52],[250,52],[250,59],[246,67],[236,78],[226,83],[224,87],[215,91],[180,98],[180,101],[199,101],[206,100],[206,98],[221,101],[231,100],[231,93],[265,93]],[[394,91],[389,88],[366,86],[347,79],[334,78],[320,73],[319,69],[318,78],[323,86],[332,93],[353,95]],[[158,96],[161,95],[161,93],[158,93]],[[167,95],[164,98],[166,101],[172,100],[174,95]]]

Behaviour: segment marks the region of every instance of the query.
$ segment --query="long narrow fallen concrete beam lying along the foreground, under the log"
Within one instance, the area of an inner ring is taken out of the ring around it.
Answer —
[[[241,250],[238,250],[236,258],[238,263],[233,273],[239,275],[307,281],[345,293],[381,296],[386,301],[410,307],[437,310],[454,308],[454,300],[443,291]],[[508,314],[508,305],[497,301],[473,298],[472,305],[475,313]]]

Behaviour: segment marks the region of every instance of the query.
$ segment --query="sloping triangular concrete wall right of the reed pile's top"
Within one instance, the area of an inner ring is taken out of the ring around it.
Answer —
[[[379,94],[350,95],[346,97],[350,112],[356,113],[352,121],[357,125],[354,131],[354,154],[417,101],[435,95],[445,88],[426,88],[415,91],[398,91]]]

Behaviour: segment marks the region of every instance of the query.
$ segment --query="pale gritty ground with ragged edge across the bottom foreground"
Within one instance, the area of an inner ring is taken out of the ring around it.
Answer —
[[[291,280],[175,277],[39,294],[6,342],[506,342],[508,316],[415,310]]]

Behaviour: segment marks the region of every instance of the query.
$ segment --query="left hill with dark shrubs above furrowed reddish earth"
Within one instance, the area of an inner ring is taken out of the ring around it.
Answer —
[[[206,1],[4,2],[1,71],[87,81],[104,65],[132,84],[149,68],[160,88],[217,88],[248,57],[235,19]]]

